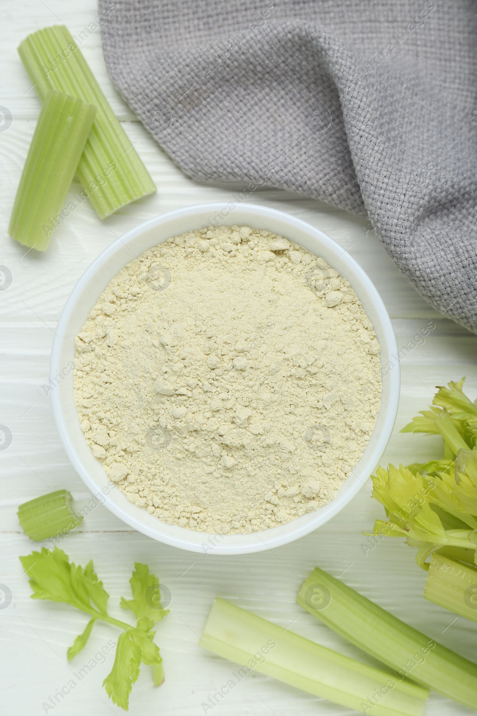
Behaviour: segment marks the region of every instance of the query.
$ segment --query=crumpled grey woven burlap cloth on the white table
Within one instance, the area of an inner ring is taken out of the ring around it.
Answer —
[[[112,80],[185,173],[367,214],[421,295],[477,332],[476,2],[108,9]]]

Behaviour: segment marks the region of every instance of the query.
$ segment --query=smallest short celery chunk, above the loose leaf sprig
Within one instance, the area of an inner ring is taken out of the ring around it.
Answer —
[[[68,490],[58,490],[23,503],[17,513],[21,529],[34,540],[68,534],[83,521],[74,513],[72,499]]]

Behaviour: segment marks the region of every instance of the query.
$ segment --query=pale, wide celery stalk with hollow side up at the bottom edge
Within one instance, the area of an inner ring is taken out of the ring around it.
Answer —
[[[223,659],[310,694],[373,716],[421,715],[428,691],[278,627],[225,599],[215,599],[199,642]]]

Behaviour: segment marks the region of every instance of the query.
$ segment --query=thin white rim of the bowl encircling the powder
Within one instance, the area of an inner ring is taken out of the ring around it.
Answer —
[[[217,213],[223,213],[224,211],[228,211],[229,213],[231,213],[232,211],[234,211],[234,209],[237,208],[239,208],[242,212],[248,212],[255,216],[257,216],[258,213],[260,214],[261,218],[275,218],[278,221],[285,221],[290,225],[290,230],[292,230],[292,228],[297,228],[301,231],[304,231],[305,233],[308,233],[308,235],[318,239],[318,241],[320,241],[327,248],[329,248],[330,251],[333,251],[334,253],[337,253],[337,248],[339,250],[343,248],[333,238],[330,238],[328,234],[324,233],[312,224],[303,221],[303,219],[297,218],[292,214],[286,213],[285,211],[280,211],[259,204],[250,204],[245,202],[234,203],[230,201],[200,203],[187,205],[183,208],[175,209],[173,211],[159,214],[158,216],[154,216],[153,218],[147,219],[147,221],[143,221],[137,226],[134,226],[134,228],[129,229],[129,231],[126,231],[124,234],[122,234],[122,236],[119,236],[119,238],[110,243],[107,248],[104,248],[104,251],[99,253],[99,256],[97,256],[97,258],[94,258],[92,263],[89,264],[87,269],[83,272],[82,276],[79,277],[77,283],[74,285],[66,303],[64,304],[62,314],[59,317],[59,321],[56,325],[56,329],[54,332],[53,342],[51,345],[50,380],[55,379],[56,375],[59,372],[62,343],[65,337],[65,333],[67,331],[69,320],[72,317],[80,294],[89,284],[89,281],[94,277],[97,271],[101,269],[104,263],[106,263],[109,258],[114,256],[114,253],[116,253],[120,248],[124,247],[124,244],[127,244],[130,241],[134,241],[134,239],[136,239],[138,236],[141,236],[142,233],[148,231],[149,229],[160,227],[162,224],[167,223],[169,221],[173,221],[174,219],[191,217],[195,213],[198,214],[204,212],[209,212],[211,214],[215,212],[217,216]],[[228,224],[228,226],[230,226],[230,224]],[[147,249],[144,249],[144,251],[146,250]],[[362,282],[362,284],[365,284],[368,296],[371,301],[373,301],[373,307],[375,308],[375,311],[377,312],[380,319],[381,329],[383,330],[384,339],[388,347],[388,354],[391,354],[392,352],[397,354],[398,345],[396,343],[395,334],[390,321],[390,317],[388,315],[388,311],[385,309],[383,299],[381,299],[380,294],[375,288],[373,282],[370,280],[368,274],[366,274],[365,271],[359,265],[359,263],[355,261],[352,256],[350,256],[348,251],[343,251],[341,256],[337,256],[337,258],[339,258],[340,261],[343,261],[345,265],[347,265],[356,275],[360,277],[360,281]],[[186,549],[188,551],[215,554],[244,554],[256,551],[263,551],[265,549],[274,548],[295,541],[295,539],[298,539],[310,532],[315,531],[315,529],[318,529],[318,527],[323,526],[323,524],[328,522],[331,518],[335,517],[345,507],[345,505],[347,505],[350,500],[355,497],[355,495],[363,487],[363,485],[365,485],[365,483],[368,481],[370,473],[372,473],[378,465],[380,458],[382,457],[384,450],[388,445],[390,435],[393,431],[395,418],[398,412],[398,404],[400,397],[399,363],[395,365],[393,371],[390,371],[388,373],[388,378],[390,379],[388,407],[385,412],[383,422],[380,423],[380,434],[378,436],[378,440],[375,442],[375,447],[373,448],[372,453],[370,453],[370,456],[368,456],[366,470],[360,470],[360,472],[366,473],[364,479],[356,479],[357,475],[354,473],[354,471],[352,471],[352,473],[348,475],[348,478],[346,478],[346,480],[350,479],[351,476],[355,478],[355,482],[352,487],[349,488],[345,494],[340,495],[338,493],[338,495],[333,500],[330,500],[327,505],[324,505],[323,508],[320,508],[317,511],[317,518],[314,521],[312,519],[308,521],[308,523],[300,524],[300,518],[295,518],[295,520],[292,520],[287,523],[287,525],[293,525],[293,523],[297,523],[295,530],[291,531],[290,533],[287,533],[285,535],[282,535],[280,533],[277,534],[276,531],[280,530],[280,526],[278,526],[275,528],[269,528],[265,531],[255,532],[250,535],[247,535],[247,537],[249,538],[252,536],[257,536],[257,541],[254,544],[234,544],[233,541],[231,542],[233,538],[242,537],[242,535],[220,535],[220,543],[215,544],[209,540],[209,543],[212,546],[206,546],[205,548],[204,542],[200,544],[196,541],[187,541],[187,532],[189,531],[186,528],[178,527],[178,529],[185,533],[183,537],[176,537],[167,533],[161,533],[160,525],[163,524],[161,521],[157,520],[159,530],[155,528],[152,529],[148,525],[142,523],[139,518],[135,518],[134,516],[125,513],[121,506],[117,505],[109,497],[109,495],[101,495],[101,502],[109,509],[109,511],[114,513],[114,515],[119,517],[119,519],[121,519],[123,522],[133,527],[137,531],[149,537],[152,537],[157,541],[169,544],[170,546]],[[50,384],[52,383],[50,382]],[[72,438],[69,435],[69,431],[67,429],[66,421],[63,415],[62,402],[60,399],[60,390],[51,391],[51,405],[53,409],[56,428],[59,432],[59,437],[62,440],[62,444],[68,455],[69,460],[72,462],[74,469],[77,471],[77,473],[79,473],[80,477],[87,485],[89,490],[91,490],[94,495],[98,495],[99,485],[96,483],[92,475],[89,474],[89,471],[84,468],[82,460],[81,458],[79,458],[76,448],[74,447]],[[375,429],[376,427],[378,426],[376,425]],[[371,464],[373,466],[368,468],[368,465]],[[343,485],[344,484],[345,483],[343,483]],[[137,509],[141,509],[142,511],[142,508]],[[204,538],[210,537],[209,533],[200,534],[204,536]]]

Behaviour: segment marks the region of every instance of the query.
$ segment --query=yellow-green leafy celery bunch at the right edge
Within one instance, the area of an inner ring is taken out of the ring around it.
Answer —
[[[373,498],[386,512],[374,534],[403,536],[417,546],[416,562],[429,569],[426,558],[449,549],[468,561],[477,546],[477,406],[463,392],[462,379],[438,387],[433,405],[401,432],[442,435],[441,459],[405,468],[388,465],[373,475]]]

